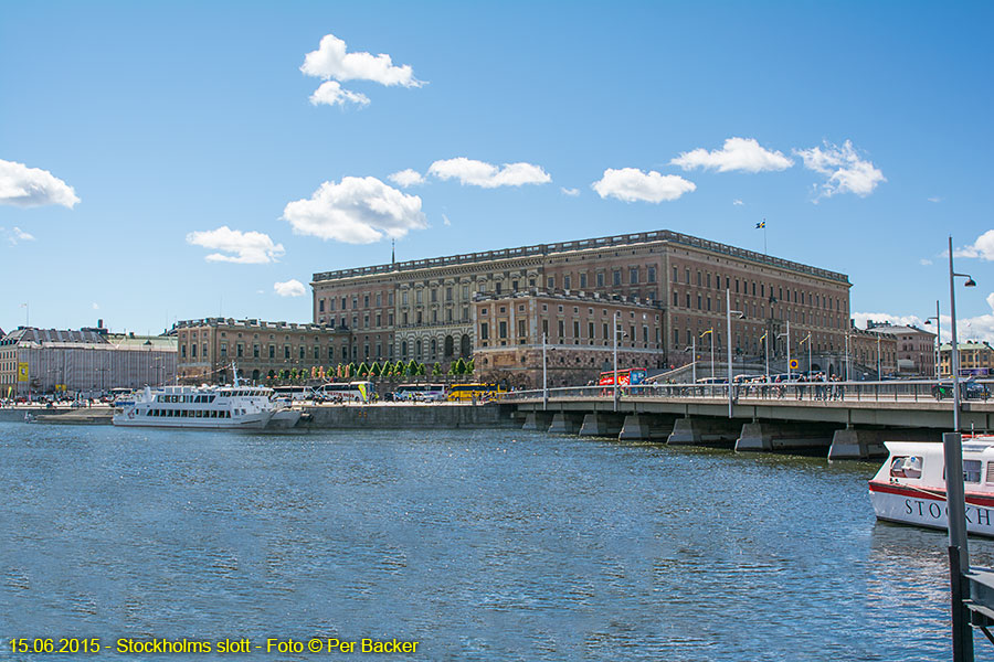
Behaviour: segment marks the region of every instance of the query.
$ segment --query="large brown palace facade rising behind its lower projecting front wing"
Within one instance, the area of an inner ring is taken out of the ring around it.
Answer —
[[[694,339],[713,329],[716,346],[730,340],[737,356],[760,357],[770,342],[782,359],[789,339],[794,355],[811,342],[817,367],[837,373],[849,327],[845,274],[670,231],[324,271],[311,288],[314,323],[348,333],[369,361],[445,363],[489,350],[475,303],[519,293],[622,297],[657,310],[653,364],[665,366],[689,362]],[[731,339],[727,297],[742,313]]]

